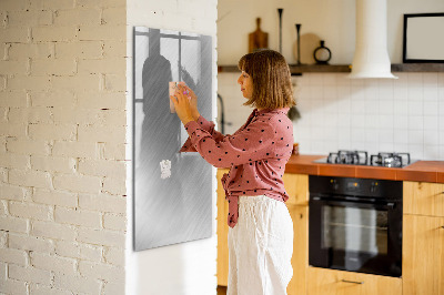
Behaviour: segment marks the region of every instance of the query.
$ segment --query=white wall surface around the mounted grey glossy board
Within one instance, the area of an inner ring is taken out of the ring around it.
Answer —
[[[213,100],[216,91],[216,0],[128,0],[127,1],[127,109],[132,110],[132,28],[180,30],[213,37]],[[215,103],[213,116],[215,116]],[[132,120],[128,120],[130,132],[127,141],[127,157],[131,159]],[[128,170],[128,175],[132,171]],[[206,295],[216,292],[216,179],[213,169],[213,236],[211,238],[181,243],[141,252],[132,251],[132,227],[129,222],[127,236],[127,294],[143,295]],[[131,176],[128,187],[131,189]],[[210,196],[209,196],[210,197]],[[132,221],[132,193],[128,194],[128,218]]]

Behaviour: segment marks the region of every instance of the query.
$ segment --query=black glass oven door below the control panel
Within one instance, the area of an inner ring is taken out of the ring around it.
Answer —
[[[402,201],[310,199],[309,264],[401,276]]]

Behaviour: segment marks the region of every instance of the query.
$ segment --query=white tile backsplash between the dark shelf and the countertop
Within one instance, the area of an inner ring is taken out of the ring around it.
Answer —
[[[304,154],[339,149],[410,152],[412,159],[444,160],[444,73],[394,73],[397,80],[351,80],[346,73],[293,78],[301,120],[294,141]],[[236,84],[238,73],[219,74],[225,133],[234,133],[252,108]],[[219,111],[221,113],[221,111]],[[220,124],[219,124],[220,125]]]

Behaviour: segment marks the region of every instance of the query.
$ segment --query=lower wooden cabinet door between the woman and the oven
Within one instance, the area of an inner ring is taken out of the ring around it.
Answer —
[[[309,207],[287,205],[293,220],[293,277],[286,287],[289,295],[306,294],[306,268],[309,267]]]

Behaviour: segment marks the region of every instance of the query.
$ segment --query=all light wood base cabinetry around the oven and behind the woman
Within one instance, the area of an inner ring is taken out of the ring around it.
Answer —
[[[228,202],[218,170],[218,284],[228,285]],[[309,267],[309,176],[285,173],[293,220],[289,295],[444,295],[444,184],[404,182],[402,278]],[[362,283],[361,283],[362,282]]]

